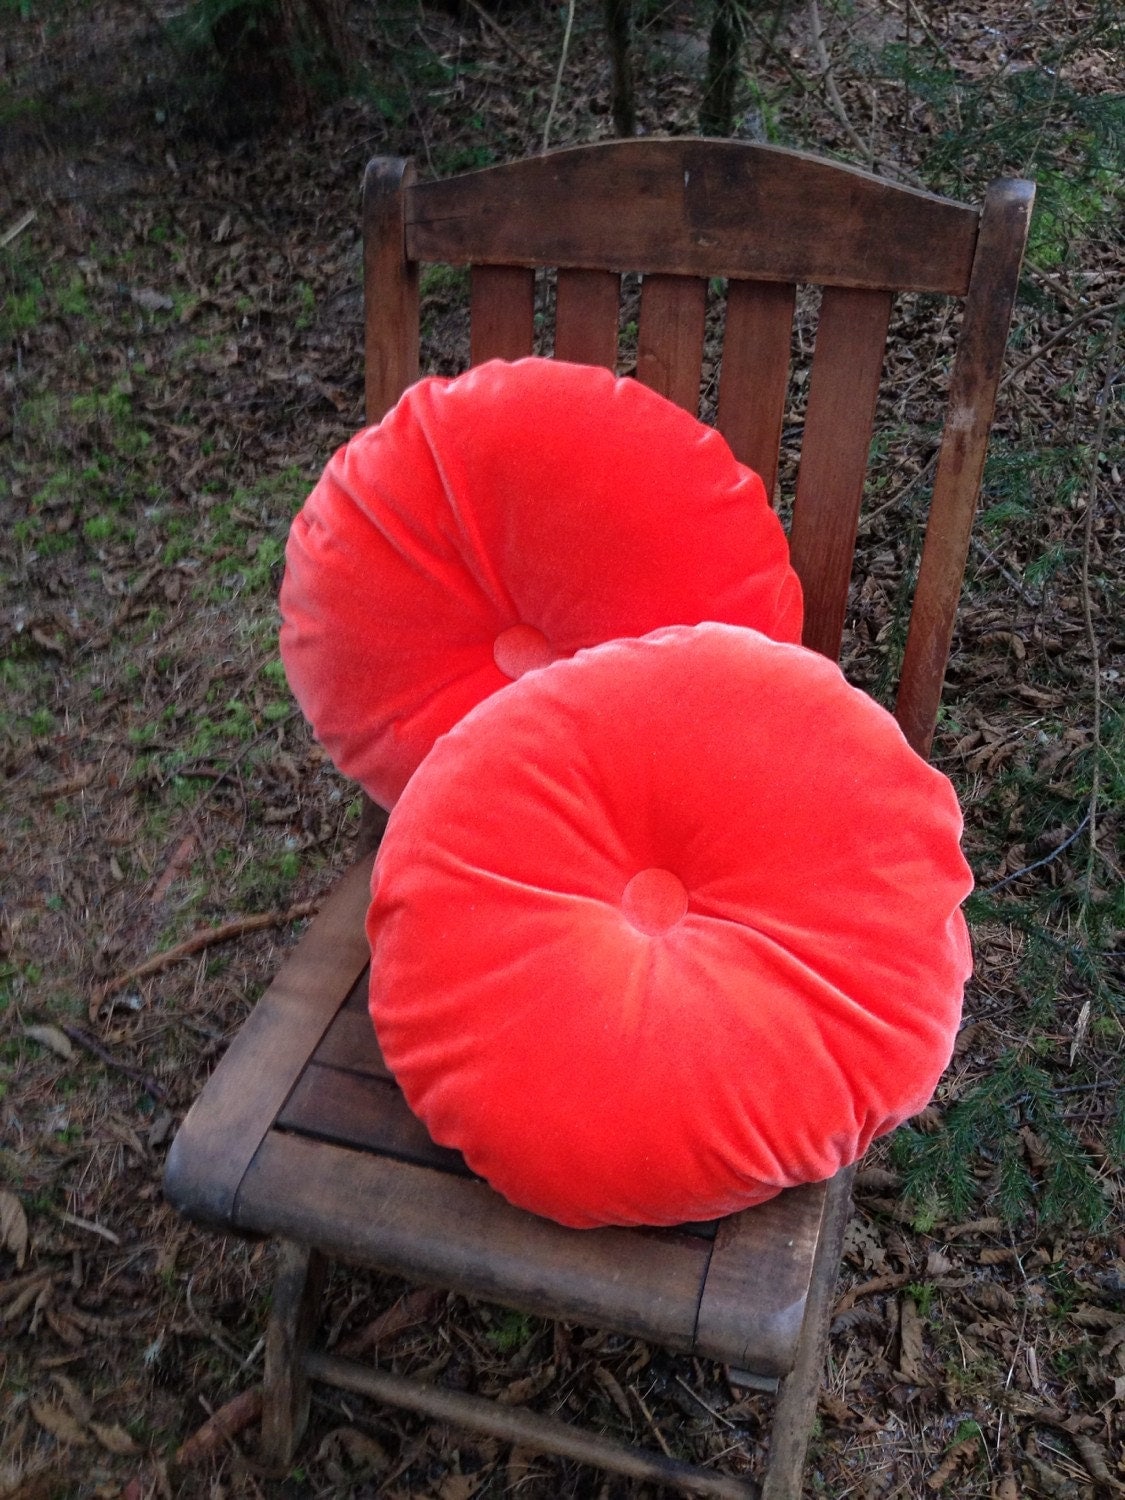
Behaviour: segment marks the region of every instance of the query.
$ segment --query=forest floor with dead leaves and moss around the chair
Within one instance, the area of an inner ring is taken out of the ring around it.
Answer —
[[[966,196],[1029,168],[1044,201],[934,747],[966,807],[976,974],[934,1104],[858,1179],[816,1496],[1125,1492],[1125,261],[1089,114],[1124,54],[1096,4],[1017,9],[766,9],[744,54],[742,135]],[[612,130],[598,16],[574,10],[552,146]],[[566,8],[356,4],[363,88],[256,134],[174,18],[0,0],[0,1497],[651,1494],[328,1392],[268,1474],[248,1416],[272,1252],[160,1196],[177,1120],[357,822],[292,708],[274,597],[290,519],[362,423],[364,160],[538,148]],[[645,9],[646,132],[693,129],[706,33],[704,6]],[[897,82],[896,56],[921,58]],[[1054,82],[1018,94],[1046,56]],[[453,369],[464,278],[423,292],[426,368]],[[944,338],[908,298],[844,648],[876,694]],[[351,1272],[327,1324],[404,1372],[759,1467],[770,1404],[706,1362]],[[200,1436],[237,1398],[237,1431]]]

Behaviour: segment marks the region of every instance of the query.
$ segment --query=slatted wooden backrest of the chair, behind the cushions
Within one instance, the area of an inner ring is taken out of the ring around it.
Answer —
[[[442,182],[376,158],[364,182],[366,412],[418,378],[418,266],[471,267],[471,362],[536,346],[615,368],[639,272],[636,376],[699,412],[708,286],[726,280],[716,424],[774,492],[798,285],[822,290],[789,544],[806,645],[836,658],[894,292],[964,300],[896,716],[928,753],[1035,189],[982,208],[798,152],[734,141],[580,146]]]

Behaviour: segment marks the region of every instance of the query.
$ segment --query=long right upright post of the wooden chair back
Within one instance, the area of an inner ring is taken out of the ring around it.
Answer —
[[[984,200],[896,705],[903,734],[920,754],[928,754],[938,723],[1034,201],[1035,188],[1020,180],[993,183]]]

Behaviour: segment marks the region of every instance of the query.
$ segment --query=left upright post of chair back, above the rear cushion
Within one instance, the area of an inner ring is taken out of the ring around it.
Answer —
[[[364,408],[380,422],[418,378],[418,267],[406,258],[414,165],[376,156],[363,178]]]

